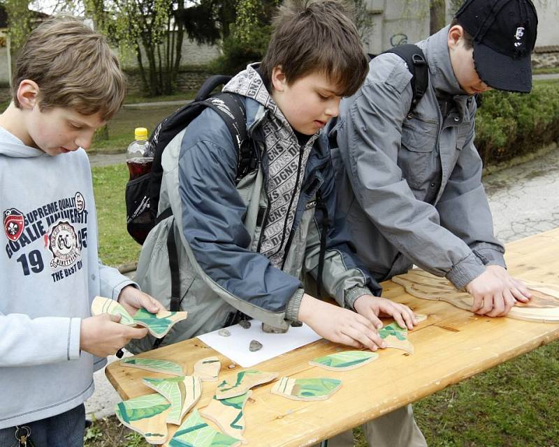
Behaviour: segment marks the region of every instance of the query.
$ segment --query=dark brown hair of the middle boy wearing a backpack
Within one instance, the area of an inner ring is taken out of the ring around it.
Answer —
[[[281,66],[286,81],[324,73],[351,96],[363,84],[368,58],[349,8],[340,0],[287,0],[273,20],[274,31],[261,70],[266,82]]]

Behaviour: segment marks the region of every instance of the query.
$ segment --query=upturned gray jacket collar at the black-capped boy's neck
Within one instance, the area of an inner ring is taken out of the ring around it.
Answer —
[[[443,95],[467,95],[458,84],[458,79],[454,75],[450,61],[449,45],[447,43],[449,29],[450,26],[445,26],[417,45],[426,53],[435,91]]]

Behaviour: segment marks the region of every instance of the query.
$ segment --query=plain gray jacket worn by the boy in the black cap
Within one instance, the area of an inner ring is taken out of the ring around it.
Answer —
[[[412,75],[395,54],[372,59],[365,84],[340,108],[339,217],[379,281],[416,264],[460,289],[485,265],[504,266],[474,146],[476,103],[454,76],[448,30],[417,44],[429,86],[414,112]]]

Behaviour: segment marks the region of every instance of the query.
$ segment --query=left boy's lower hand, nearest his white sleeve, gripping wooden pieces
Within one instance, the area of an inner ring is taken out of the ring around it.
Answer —
[[[80,349],[98,357],[115,354],[133,338],[144,338],[146,328],[119,324],[120,315],[101,314],[82,319]]]

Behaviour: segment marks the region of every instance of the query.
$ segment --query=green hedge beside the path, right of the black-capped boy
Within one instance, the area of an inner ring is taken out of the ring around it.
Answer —
[[[559,139],[559,83],[531,93],[484,93],[476,117],[476,146],[484,165],[507,161]]]

